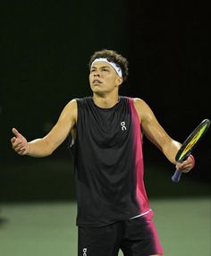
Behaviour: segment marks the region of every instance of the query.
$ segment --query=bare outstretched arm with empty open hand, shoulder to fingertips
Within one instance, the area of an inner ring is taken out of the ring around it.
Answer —
[[[70,101],[61,113],[57,123],[45,137],[28,142],[25,137],[13,128],[14,137],[11,139],[13,149],[20,155],[42,158],[49,156],[63,143],[72,131],[77,121],[77,102]]]

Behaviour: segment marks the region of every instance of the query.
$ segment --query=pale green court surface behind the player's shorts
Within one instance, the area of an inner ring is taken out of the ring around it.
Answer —
[[[153,200],[151,206],[165,255],[210,255],[208,199]],[[0,255],[77,255],[75,203],[3,204],[1,208]]]

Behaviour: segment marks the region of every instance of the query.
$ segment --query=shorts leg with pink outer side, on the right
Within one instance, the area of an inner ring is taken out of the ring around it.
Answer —
[[[153,212],[149,212],[144,216],[130,219],[125,223],[125,236],[121,245],[125,256],[163,254],[152,218]]]

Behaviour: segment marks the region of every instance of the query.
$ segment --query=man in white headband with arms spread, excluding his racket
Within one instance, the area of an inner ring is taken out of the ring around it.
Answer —
[[[111,50],[91,56],[93,96],[71,100],[44,138],[28,142],[13,128],[13,149],[20,155],[46,157],[67,136],[74,158],[79,226],[79,255],[162,255],[153,211],[143,182],[142,137],[145,134],[181,172],[194,166],[174,158],[181,144],[157,122],[140,98],[119,96],[128,62]]]

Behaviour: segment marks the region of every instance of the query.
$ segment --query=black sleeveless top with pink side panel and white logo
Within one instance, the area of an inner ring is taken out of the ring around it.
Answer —
[[[106,226],[148,211],[139,116],[132,98],[111,108],[77,99],[72,145],[78,226]]]

